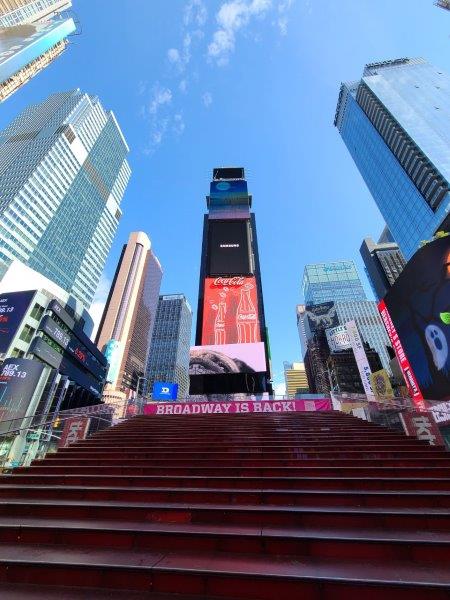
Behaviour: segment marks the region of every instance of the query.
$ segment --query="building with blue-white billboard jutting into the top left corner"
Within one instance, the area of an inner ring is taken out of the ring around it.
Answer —
[[[68,45],[70,17],[53,18],[69,0],[0,0],[0,102],[37,75]]]

